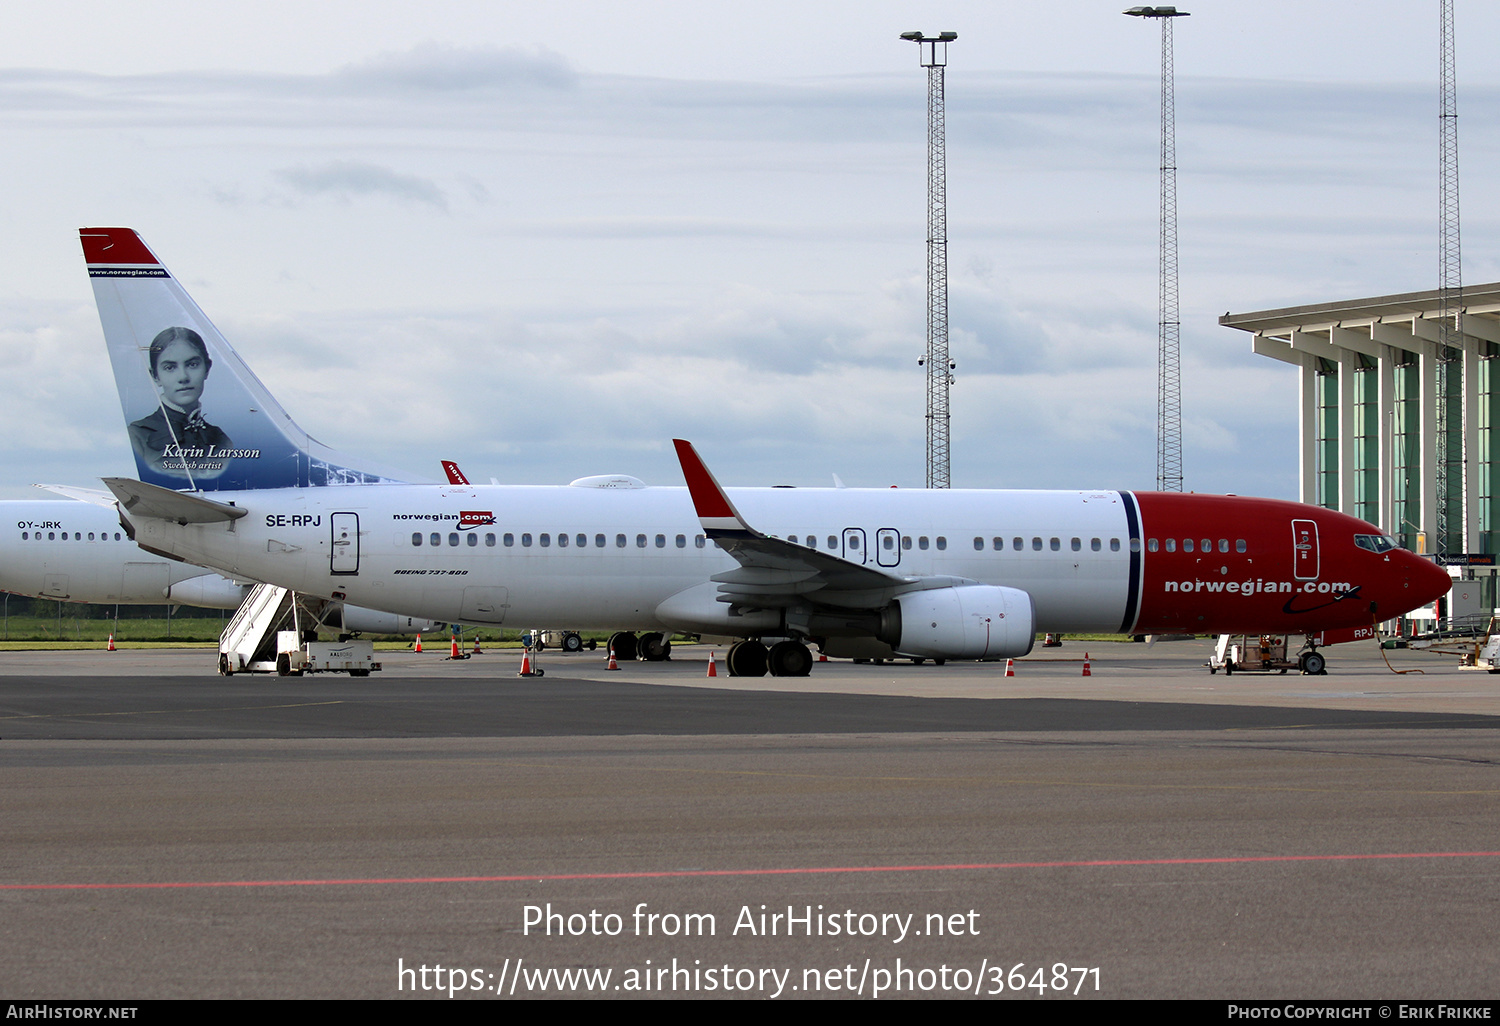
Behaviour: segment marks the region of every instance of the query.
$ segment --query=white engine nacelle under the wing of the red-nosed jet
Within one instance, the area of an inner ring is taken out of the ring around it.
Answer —
[[[1036,609],[1018,588],[963,585],[897,596],[882,616],[880,640],[902,656],[1005,658],[1036,640]]]

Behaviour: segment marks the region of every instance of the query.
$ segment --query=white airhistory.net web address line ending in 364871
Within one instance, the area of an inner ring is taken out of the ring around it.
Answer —
[[[447,966],[408,966],[396,960],[396,990],[438,992],[453,998],[459,993],[488,993],[501,998],[532,993],[760,993],[780,998],[784,993],[850,993],[880,998],[910,993],[968,993],[993,996],[1005,992],[1036,994],[1080,994],[1100,990],[1098,968],[1053,963],[1050,968],[1016,963],[1010,969],[981,960],[978,969],[940,964],[936,969],[916,968],[896,958],[896,966],[843,964],[830,969],[738,968],[730,964],[704,966],[672,958],[668,964],[621,969],[528,966],[525,958],[506,958],[498,972],[484,969],[453,969]]]

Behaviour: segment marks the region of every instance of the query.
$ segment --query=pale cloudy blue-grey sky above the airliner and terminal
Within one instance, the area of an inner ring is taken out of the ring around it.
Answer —
[[[76,230],[141,232],[282,405],[438,477],[921,486],[948,54],[956,488],[1155,482],[1158,45],[1047,4],[58,0],[0,33],[0,498],[134,476]],[[1436,286],[1437,0],[1184,4],[1185,486],[1296,496],[1218,316]],[[1500,9],[1460,0],[1464,279],[1500,280]]]

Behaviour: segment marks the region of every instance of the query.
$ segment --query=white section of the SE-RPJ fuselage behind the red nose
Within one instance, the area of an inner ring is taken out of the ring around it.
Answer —
[[[1119,630],[1126,615],[1118,492],[729,494],[765,534],[843,560],[1024,590],[1038,630]],[[213,498],[249,513],[186,526],[132,518],[138,542],[234,578],[434,620],[712,630],[726,606],[710,579],[738,566],[704,538],[681,488],[357,484]]]

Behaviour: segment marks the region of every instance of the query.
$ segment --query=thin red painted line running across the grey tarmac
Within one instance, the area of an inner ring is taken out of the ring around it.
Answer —
[[[1221,858],[1100,858],[1058,862],[957,862],[952,866],[814,866],[802,868],[660,870],[642,873],[518,873],[512,876],[390,876],[327,880],[180,880],[166,884],[0,884],[0,891],[152,891],[225,886],[360,886],[375,884],[520,884],[548,880],[662,880],[702,876],[813,876],[830,873],[954,873],[1011,868],[1122,866],[1244,866],[1250,862],[1362,862],[1400,858],[1497,858],[1500,852],[1376,852],[1370,855],[1228,855]]]

